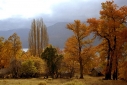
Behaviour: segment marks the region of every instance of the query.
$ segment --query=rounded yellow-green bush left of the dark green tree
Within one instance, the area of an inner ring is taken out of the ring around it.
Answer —
[[[34,65],[34,61],[27,60],[22,63],[22,77],[33,77],[37,72],[37,69]]]

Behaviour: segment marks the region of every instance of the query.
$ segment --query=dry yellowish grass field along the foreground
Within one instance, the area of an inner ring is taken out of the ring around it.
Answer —
[[[127,82],[84,76],[84,79],[0,79],[0,85],[127,85]]]

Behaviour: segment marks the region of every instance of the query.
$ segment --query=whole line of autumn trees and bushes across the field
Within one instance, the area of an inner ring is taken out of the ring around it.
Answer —
[[[1,37],[0,67],[11,67],[13,77],[46,75],[53,78],[67,73],[70,77],[78,73],[79,78],[83,78],[90,69],[102,67],[106,80],[118,77],[127,80],[127,6],[118,7],[114,1],[103,2],[98,19],[89,18],[87,23],[74,20],[67,24],[67,29],[73,35],[67,39],[64,50],[49,44],[42,19],[34,19],[31,24],[27,52],[22,51],[16,33],[7,40]],[[100,44],[94,46],[97,38]]]

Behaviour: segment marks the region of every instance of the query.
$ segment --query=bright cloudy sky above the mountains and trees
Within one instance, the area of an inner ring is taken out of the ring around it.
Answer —
[[[0,30],[29,28],[31,21],[43,18],[46,26],[57,22],[86,21],[99,17],[106,0],[0,0]],[[127,0],[114,0],[118,6]],[[11,26],[10,26],[11,25]]]

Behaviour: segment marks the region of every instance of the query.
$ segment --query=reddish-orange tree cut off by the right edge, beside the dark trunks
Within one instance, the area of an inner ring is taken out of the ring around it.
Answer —
[[[119,60],[119,78],[127,81],[127,26],[120,34],[122,58]]]

